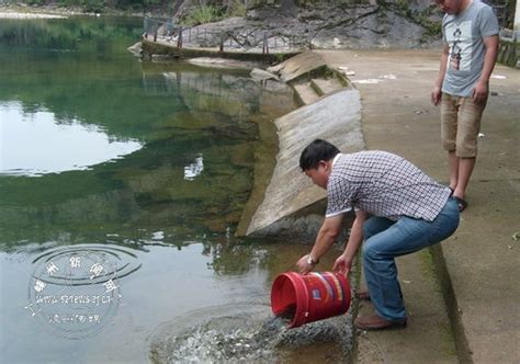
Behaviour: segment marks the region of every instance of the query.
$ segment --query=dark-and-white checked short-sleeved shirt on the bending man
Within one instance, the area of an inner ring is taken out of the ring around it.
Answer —
[[[399,156],[380,150],[338,155],[327,184],[326,216],[354,207],[392,220],[409,216],[432,221],[450,194]]]

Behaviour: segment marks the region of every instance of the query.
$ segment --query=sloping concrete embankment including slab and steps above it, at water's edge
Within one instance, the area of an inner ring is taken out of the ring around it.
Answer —
[[[308,104],[274,121],[280,145],[274,171],[263,201],[252,217],[242,218],[238,234],[314,236],[323,218],[323,208],[316,204],[324,201],[325,191],[299,170],[302,149],[315,138],[327,139],[347,152],[364,149],[359,91],[324,67],[319,55],[307,52],[273,69],[282,80],[299,88],[301,102],[307,100]]]

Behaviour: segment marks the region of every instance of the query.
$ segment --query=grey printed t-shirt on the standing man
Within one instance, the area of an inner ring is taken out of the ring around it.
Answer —
[[[473,1],[457,15],[445,14],[442,39],[450,46],[442,92],[471,96],[484,68],[484,38],[499,33],[493,9]]]

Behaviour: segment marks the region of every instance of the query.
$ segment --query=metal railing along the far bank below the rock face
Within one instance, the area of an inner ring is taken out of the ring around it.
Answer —
[[[305,42],[278,32],[252,30],[248,33],[217,31],[199,26],[174,25],[171,19],[145,18],[143,21],[146,39],[171,43],[178,48],[218,48],[236,52],[293,52],[305,48]]]

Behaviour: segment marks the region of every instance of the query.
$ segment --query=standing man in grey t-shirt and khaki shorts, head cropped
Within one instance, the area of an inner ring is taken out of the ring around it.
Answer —
[[[477,155],[481,118],[486,107],[498,53],[498,21],[493,9],[472,0],[436,0],[445,13],[441,67],[431,101],[441,104],[441,139],[448,150],[450,187],[459,209]]]

